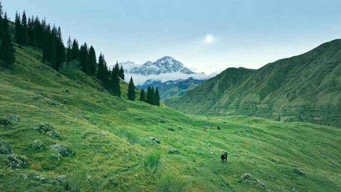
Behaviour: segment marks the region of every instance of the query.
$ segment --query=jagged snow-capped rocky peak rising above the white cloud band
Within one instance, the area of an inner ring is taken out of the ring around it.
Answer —
[[[181,62],[170,56],[165,56],[157,61],[147,61],[142,65],[127,61],[120,63],[127,73],[141,75],[160,75],[164,73],[181,72],[183,74],[193,74],[194,72],[185,67]]]

